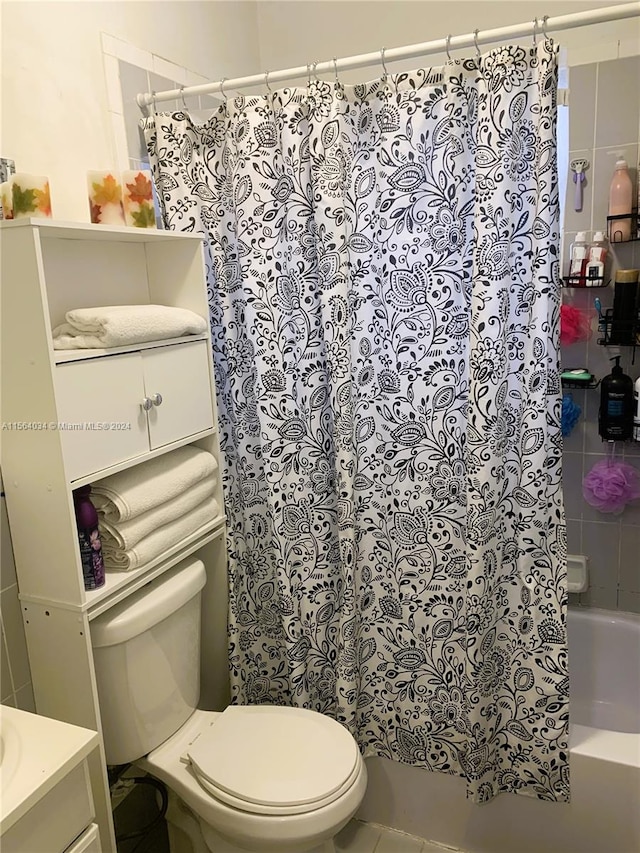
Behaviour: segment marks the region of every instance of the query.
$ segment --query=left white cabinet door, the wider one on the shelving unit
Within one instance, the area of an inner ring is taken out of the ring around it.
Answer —
[[[149,450],[139,352],[58,364],[55,384],[70,480]]]

